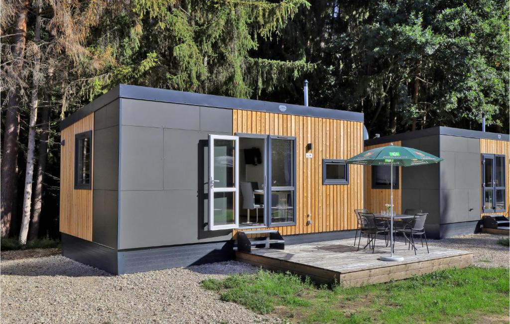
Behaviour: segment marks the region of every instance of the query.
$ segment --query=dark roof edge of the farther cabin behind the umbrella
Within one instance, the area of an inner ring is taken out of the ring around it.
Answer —
[[[402,140],[412,140],[421,137],[434,136],[434,135],[448,135],[448,136],[458,136],[458,137],[468,137],[473,139],[487,139],[487,140],[497,140],[497,141],[510,141],[510,135],[508,134],[499,134],[492,132],[483,132],[479,130],[470,130],[470,129],[462,129],[462,128],[453,128],[453,127],[432,127],[426,129],[420,129],[415,131],[407,131],[404,133],[384,136],[375,139],[365,140],[365,146],[390,143],[395,141]]]

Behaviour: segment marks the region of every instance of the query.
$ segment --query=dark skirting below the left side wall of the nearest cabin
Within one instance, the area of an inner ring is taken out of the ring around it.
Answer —
[[[62,255],[117,275],[117,250],[61,233]]]

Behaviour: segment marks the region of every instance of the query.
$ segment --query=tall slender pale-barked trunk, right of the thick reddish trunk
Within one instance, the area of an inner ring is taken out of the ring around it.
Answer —
[[[20,244],[27,243],[30,224],[30,208],[32,207],[32,181],[34,178],[34,151],[35,151],[35,128],[37,122],[38,106],[38,87],[39,70],[41,68],[40,59],[40,40],[41,40],[41,4],[37,4],[37,16],[35,23],[35,42],[37,51],[34,57],[34,71],[32,76],[32,97],[30,100],[30,124],[29,124],[29,144],[27,151],[27,169],[25,171],[25,191],[23,193],[23,217],[21,218],[21,229],[19,230]]]

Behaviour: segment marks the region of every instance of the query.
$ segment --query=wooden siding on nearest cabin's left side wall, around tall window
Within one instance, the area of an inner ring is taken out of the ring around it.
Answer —
[[[94,113],[62,129],[60,148],[60,231],[92,241],[92,189],[74,188],[74,136],[92,130],[91,152],[94,154]],[[91,174],[93,179],[93,158]],[[93,188],[91,183],[91,188]]]

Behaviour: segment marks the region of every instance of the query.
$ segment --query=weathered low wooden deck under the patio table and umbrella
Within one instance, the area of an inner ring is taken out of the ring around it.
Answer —
[[[362,239],[362,244],[366,239]],[[463,268],[473,263],[470,252],[430,247],[419,247],[417,255],[407,250],[402,241],[395,244],[395,254],[404,257],[401,262],[380,261],[390,248],[384,240],[377,240],[375,252],[356,251],[354,239],[340,239],[286,246],[285,250],[252,249],[251,253],[237,252],[239,261],[262,266],[273,271],[308,276],[316,283],[331,284],[335,281],[344,287],[388,282],[423,275],[448,268]]]

